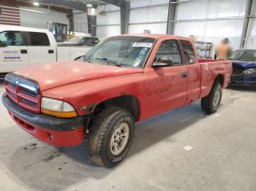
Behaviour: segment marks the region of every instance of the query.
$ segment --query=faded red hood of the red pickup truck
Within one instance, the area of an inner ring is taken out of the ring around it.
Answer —
[[[143,69],[132,69],[97,63],[83,63],[80,61],[59,62],[32,66],[15,71],[39,83],[41,91],[76,82],[105,77],[116,77],[125,74],[142,73]]]

